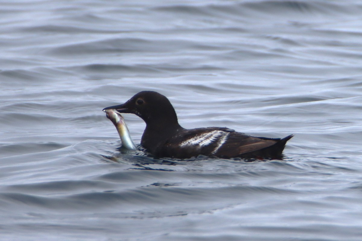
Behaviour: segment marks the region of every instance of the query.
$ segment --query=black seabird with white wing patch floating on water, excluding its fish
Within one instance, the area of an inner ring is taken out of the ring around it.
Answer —
[[[285,138],[253,137],[226,127],[185,129],[166,96],[141,91],[126,103],[106,107],[120,113],[133,113],[146,122],[141,145],[157,157],[186,159],[205,155],[218,158],[281,159]]]

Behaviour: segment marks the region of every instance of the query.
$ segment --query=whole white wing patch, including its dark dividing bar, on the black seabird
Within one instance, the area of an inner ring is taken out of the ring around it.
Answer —
[[[198,146],[198,149],[200,149],[203,146],[208,146],[211,143],[217,142],[218,144],[216,145],[214,151],[212,151],[212,154],[215,154],[216,151],[226,142],[229,134],[230,133],[222,130],[213,130],[181,142],[180,147]]]

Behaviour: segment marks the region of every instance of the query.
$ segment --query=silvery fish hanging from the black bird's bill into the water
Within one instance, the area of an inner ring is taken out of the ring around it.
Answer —
[[[130,131],[127,128],[126,122],[123,119],[121,113],[115,109],[105,109],[106,117],[112,121],[117,129],[119,138],[121,138],[122,146],[129,150],[137,150],[136,145],[133,143],[130,135]]]

